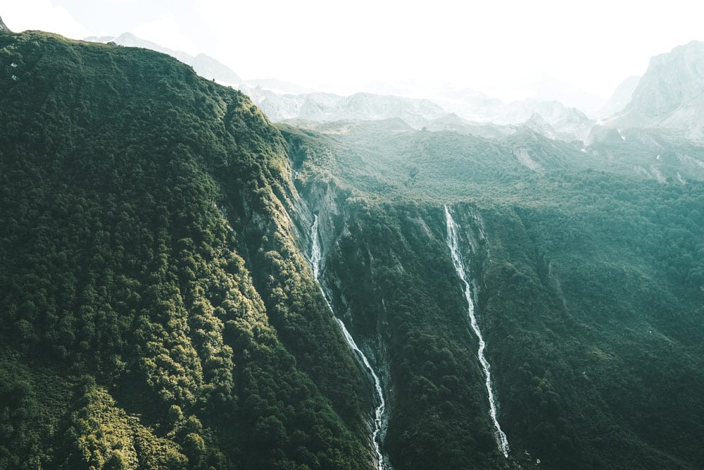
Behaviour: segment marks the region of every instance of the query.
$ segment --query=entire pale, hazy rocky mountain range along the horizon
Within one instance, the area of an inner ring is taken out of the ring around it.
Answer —
[[[245,81],[210,56],[190,56],[130,33],[86,40],[143,47],[173,56],[191,65],[203,78],[240,89],[275,122],[401,118],[416,129],[498,137],[525,127],[551,139],[587,143],[610,135],[596,128],[655,127],[672,130],[690,140],[704,139],[702,42],[691,42],[653,57],[642,78],[633,76],[624,80],[603,108],[594,114],[603,118],[596,126],[596,121],[586,113],[560,101],[525,99],[505,104],[472,89],[449,86],[422,99],[412,85],[389,85],[379,80],[367,82],[363,86],[367,92],[343,96],[276,78]]]

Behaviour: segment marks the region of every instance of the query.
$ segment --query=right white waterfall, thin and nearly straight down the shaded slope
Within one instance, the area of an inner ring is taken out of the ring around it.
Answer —
[[[484,357],[484,349],[486,349],[486,342],[482,337],[482,331],[479,330],[479,324],[477,323],[477,317],[474,316],[474,301],[472,300],[472,289],[470,287],[470,281],[467,279],[467,271],[465,270],[465,264],[462,262],[462,257],[460,256],[459,239],[457,236],[457,224],[452,218],[449,209],[445,206],[445,220],[447,223],[447,246],[450,249],[450,254],[452,256],[452,263],[455,265],[455,271],[457,275],[465,285],[465,298],[467,299],[467,305],[469,306],[469,316],[470,324],[472,325],[472,330],[474,330],[474,335],[477,335],[477,340],[479,340],[479,363],[482,364],[482,370],[484,371],[484,385],[486,386],[486,392],[489,394],[489,414],[491,415],[491,421],[494,423],[494,435],[496,436],[496,443],[498,444],[498,450],[501,451],[503,457],[508,459],[508,439],[505,433],[501,430],[501,425],[496,419],[496,397],[494,397],[494,391],[491,387],[491,366],[489,366],[489,361]]]

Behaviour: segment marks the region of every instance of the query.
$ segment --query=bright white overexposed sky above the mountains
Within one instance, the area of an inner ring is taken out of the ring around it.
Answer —
[[[245,79],[470,87],[502,99],[607,98],[648,59],[704,39],[704,2],[619,0],[2,0],[11,30],[132,32]],[[550,94],[555,96],[551,97]],[[565,101],[565,99],[563,99]]]

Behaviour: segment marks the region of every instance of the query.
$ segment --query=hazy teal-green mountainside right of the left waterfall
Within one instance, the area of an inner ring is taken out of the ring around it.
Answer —
[[[669,168],[661,182],[633,170],[646,147],[630,136],[585,153],[528,130],[502,141],[370,123],[282,132],[321,221],[325,285],[386,370],[396,468],[704,464],[704,178],[674,177],[684,155],[704,161],[700,149],[661,138],[667,154],[649,156]]]

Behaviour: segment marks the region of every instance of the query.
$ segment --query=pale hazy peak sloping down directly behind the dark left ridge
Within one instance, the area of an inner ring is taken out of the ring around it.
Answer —
[[[193,67],[198,75],[201,75],[201,77],[207,78],[208,80],[218,80],[218,82],[224,82],[232,85],[237,85],[242,81],[237,73],[234,73],[229,67],[216,61],[214,58],[207,56],[206,54],[198,54],[195,57],[190,56],[185,52],[174,51],[173,49],[168,49],[168,47],[160,46],[159,44],[156,44],[156,42],[146,41],[145,39],[132,35],[130,32],[122,33],[122,35],[118,37],[93,36],[87,37],[84,40],[88,42],[101,42],[103,44],[114,42],[115,44],[124,47],[142,47],[143,49],[151,49],[152,51],[158,51],[177,58],[179,61]]]

